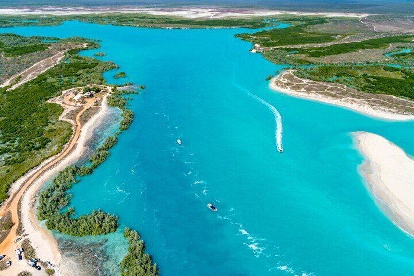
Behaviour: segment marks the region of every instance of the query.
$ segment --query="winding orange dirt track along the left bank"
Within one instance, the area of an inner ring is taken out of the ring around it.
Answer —
[[[93,105],[93,101],[88,101],[84,108],[76,115],[75,122],[76,122],[76,130],[73,134],[69,144],[67,147],[59,154],[56,158],[51,160],[49,163],[45,164],[41,168],[39,168],[36,173],[31,176],[26,182],[24,182],[20,189],[7,201],[6,205],[3,206],[0,212],[0,216],[4,215],[6,212],[11,212],[12,221],[14,223],[13,227],[11,228],[9,234],[4,239],[4,241],[0,244],[0,253],[6,256],[14,255],[14,249],[16,244],[14,240],[18,237],[16,235],[16,229],[19,225],[19,200],[23,196],[24,192],[27,188],[39,177],[42,173],[52,168],[54,165],[59,163],[63,158],[65,158],[70,151],[76,146],[78,141],[79,135],[81,134],[81,122],[80,117],[88,107]]]

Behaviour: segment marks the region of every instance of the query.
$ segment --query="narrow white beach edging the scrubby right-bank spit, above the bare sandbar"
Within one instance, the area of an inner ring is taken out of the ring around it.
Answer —
[[[388,121],[414,120],[414,115],[399,114],[396,112],[391,112],[391,110],[379,109],[379,107],[373,108],[372,106],[369,106],[367,104],[364,105],[362,102],[350,103],[350,102],[344,101],[346,99],[339,99],[339,98],[334,99],[328,96],[321,95],[316,92],[306,92],[306,93],[298,92],[290,88],[280,87],[279,85],[276,84],[277,79],[283,78],[283,75],[285,73],[291,73],[291,72],[292,70],[283,71],[276,77],[272,78],[269,82],[270,89],[272,89],[275,92],[283,93],[283,94],[296,97],[296,98],[313,100],[313,101],[322,102],[325,104],[345,107],[346,109],[358,112],[360,114],[363,114],[369,117],[377,118],[377,119],[383,119],[383,120],[388,120]]]

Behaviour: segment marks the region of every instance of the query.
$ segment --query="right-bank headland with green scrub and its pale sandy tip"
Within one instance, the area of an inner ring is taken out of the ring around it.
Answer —
[[[404,34],[378,32],[372,27],[378,18],[369,18],[284,17],[292,26],[237,37],[252,42],[252,52],[288,65],[271,80],[276,91],[376,117],[412,119],[414,23]]]

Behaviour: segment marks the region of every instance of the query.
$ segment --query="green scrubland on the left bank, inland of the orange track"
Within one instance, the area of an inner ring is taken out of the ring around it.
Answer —
[[[60,152],[72,134],[70,124],[58,120],[62,107],[47,100],[71,87],[104,84],[102,73],[116,67],[70,54],[68,63],[34,80],[14,90],[0,89],[0,201],[11,183]]]

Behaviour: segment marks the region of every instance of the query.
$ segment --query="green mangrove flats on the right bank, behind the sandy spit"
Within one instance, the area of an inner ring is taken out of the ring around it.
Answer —
[[[413,34],[381,34],[345,18],[286,17],[281,21],[292,26],[236,37],[259,44],[263,57],[290,65],[298,77],[414,99],[414,54],[388,54],[412,48]]]

